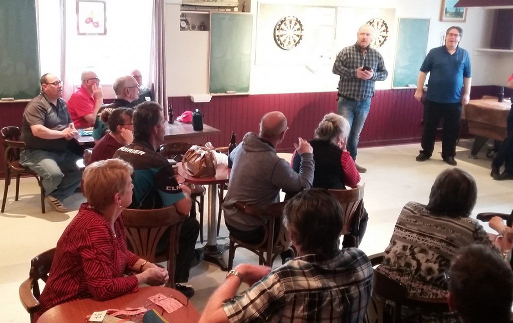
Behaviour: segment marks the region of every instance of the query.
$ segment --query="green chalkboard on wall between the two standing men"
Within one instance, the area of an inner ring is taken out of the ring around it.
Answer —
[[[399,18],[393,88],[417,84],[419,70],[426,57],[429,19]]]

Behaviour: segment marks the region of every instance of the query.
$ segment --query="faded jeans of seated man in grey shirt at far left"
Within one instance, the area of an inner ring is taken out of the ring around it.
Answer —
[[[78,159],[69,150],[25,149],[19,154],[19,163],[42,177],[45,194],[59,201],[70,197],[82,180],[82,173],[76,168]]]

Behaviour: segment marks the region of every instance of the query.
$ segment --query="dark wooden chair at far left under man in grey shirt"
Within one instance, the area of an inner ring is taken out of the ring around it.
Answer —
[[[11,178],[16,178],[16,195],[14,201],[19,197],[19,178],[22,176],[33,176],[37,180],[41,190],[41,211],[45,213],[45,190],[42,185],[42,179],[35,171],[22,166],[19,163],[19,152],[25,149],[25,142],[19,140],[21,131],[18,127],[9,126],[2,128],[2,148],[4,151],[4,164],[5,164],[5,188],[4,200],[2,201],[2,213],[5,211],[5,204],[7,202],[7,191],[11,185]]]

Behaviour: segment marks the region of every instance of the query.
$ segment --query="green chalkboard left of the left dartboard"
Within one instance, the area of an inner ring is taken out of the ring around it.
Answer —
[[[210,93],[248,93],[253,15],[210,14]]]

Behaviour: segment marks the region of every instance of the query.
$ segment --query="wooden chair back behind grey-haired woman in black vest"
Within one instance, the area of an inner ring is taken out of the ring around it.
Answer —
[[[359,185],[351,189],[329,189],[329,192],[337,198],[344,212],[342,234],[350,234],[356,239],[356,246],[360,244],[358,241],[358,230],[360,220],[363,216],[363,193],[365,184]]]

